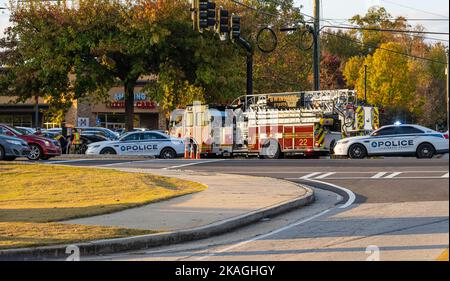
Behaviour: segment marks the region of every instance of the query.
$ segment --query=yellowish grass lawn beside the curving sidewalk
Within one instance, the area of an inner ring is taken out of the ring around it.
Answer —
[[[62,224],[206,189],[199,183],[114,170],[0,162],[0,249],[153,233]]]

